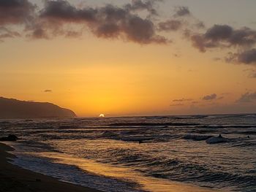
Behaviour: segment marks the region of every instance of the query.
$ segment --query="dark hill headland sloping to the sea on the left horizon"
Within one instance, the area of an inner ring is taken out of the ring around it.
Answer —
[[[47,102],[0,97],[0,118],[75,118],[75,112]]]

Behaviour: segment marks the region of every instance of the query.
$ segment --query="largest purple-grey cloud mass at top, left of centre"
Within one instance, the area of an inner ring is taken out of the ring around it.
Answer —
[[[156,34],[155,25],[150,19],[140,18],[138,14],[131,12],[135,7],[142,9],[143,6],[150,7],[152,4],[153,1],[133,1],[129,4],[129,9],[127,5],[121,8],[110,4],[105,7],[80,9],[68,1],[46,1],[38,23],[30,28],[31,37],[67,36],[65,25],[75,23],[86,26],[97,37],[121,38],[140,44],[165,44],[168,40]]]

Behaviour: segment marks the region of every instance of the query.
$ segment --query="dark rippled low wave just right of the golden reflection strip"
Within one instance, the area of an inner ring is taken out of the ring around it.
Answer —
[[[121,149],[111,150],[115,156],[112,164],[124,164],[135,166],[137,171],[143,172],[146,176],[175,180],[179,182],[200,183],[207,187],[217,186],[225,188],[227,185],[236,185],[238,188],[256,188],[255,174],[241,174],[224,171],[222,167],[214,169],[214,164],[193,164],[181,161],[178,158],[165,159],[151,157],[133,150]]]

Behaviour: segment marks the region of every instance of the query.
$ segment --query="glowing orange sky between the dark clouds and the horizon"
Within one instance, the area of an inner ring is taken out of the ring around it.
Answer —
[[[256,96],[238,101],[256,91],[255,64],[214,59],[233,48],[200,53],[182,34],[165,37],[173,43],[141,45],[89,31],[78,38],[4,39],[0,95],[53,102],[79,116],[255,112]]]

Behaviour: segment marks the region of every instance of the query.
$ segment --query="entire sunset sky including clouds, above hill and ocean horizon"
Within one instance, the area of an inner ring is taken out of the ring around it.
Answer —
[[[0,96],[80,117],[256,112],[255,0],[0,0]]]

